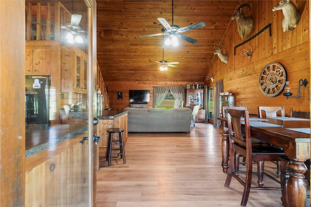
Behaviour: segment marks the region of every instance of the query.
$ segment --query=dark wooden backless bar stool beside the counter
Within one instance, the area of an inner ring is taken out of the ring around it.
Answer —
[[[108,166],[110,166],[110,160],[112,155],[117,155],[123,158],[123,163],[125,164],[125,154],[124,154],[124,144],[123,144],[123,135],[122,132],[124,129],[122,128],[109,128],[107,132],[109,133],[109,141],[108,141],[108,150],[107,150],[107,160]],[[119,140],[113,139],[113,134],[119,133]],[[117,148],[113,148],[113,146],[119,146]],[[117,151],[112,154],[113,151]]]

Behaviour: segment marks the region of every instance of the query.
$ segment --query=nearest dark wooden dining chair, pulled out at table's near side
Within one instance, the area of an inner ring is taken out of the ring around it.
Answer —
[[[244,117],[244,127],[242,127],[242,117]],[[253,143],[249,124],[249,112],[247,110],[227,109],[227,122],[230,143],[230,163],[228,168],[225,187],[229,187],[231,178],[236,178],[243,186],[241,206],[246,206],[251,189],[276,190],[281,188],[263,187],[263,166],[264,161],[279,160],[284,155],[283,150],[268,143]],[[245,180],[240,177],[241,172],[236,172],[234,162],[236,155],[246,157]],[[252,164],[257,162],[259,187],[252,187]],[[266,174],[265,174],[266,175]],[[279,183],[275,178],[268,176]]]

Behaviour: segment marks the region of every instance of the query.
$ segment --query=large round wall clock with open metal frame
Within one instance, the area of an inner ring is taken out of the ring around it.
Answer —
[[[273,97],[281,93],[287,80],[286,69],[279,63],[269,63],[259,76],[259,88],[265,96]]]

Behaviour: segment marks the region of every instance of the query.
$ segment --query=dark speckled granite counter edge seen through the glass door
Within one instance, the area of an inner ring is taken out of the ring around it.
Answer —
[[[87,130],[87,127],[84,127],[84,128],[81,128],[81,129],[79,129],[77,131],[70,132],[69,134],[66,134],[63,137],[59,137],[56,143],[55,142],[53,142],[53,143],[44,143],[44,144],[40,144],[38,146],[35,146],[34,148],[28,149],[28,150],[26,150],[25,157],[29,158],[29,157],[31,157],[31,156],[33,156],[33,155],[35,155],[35,154],[37,154],[37,153],[39,153],[39,152],[41,152],[43,150],[48,149],[51,146],[54,146],[54,145],[56,145],[58,143],[61,143],[61,142],[65,141],[65,140],[67,140],[67,139],[70,139],[70,138],[74,137],[74,136],[77,136],[77,135],[85,132],[86,130]]]

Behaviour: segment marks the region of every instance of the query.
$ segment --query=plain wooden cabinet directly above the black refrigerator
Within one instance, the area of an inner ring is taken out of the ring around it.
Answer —
[[[52,49],[51,47],[26,47],[26,75],[50,75]]]

